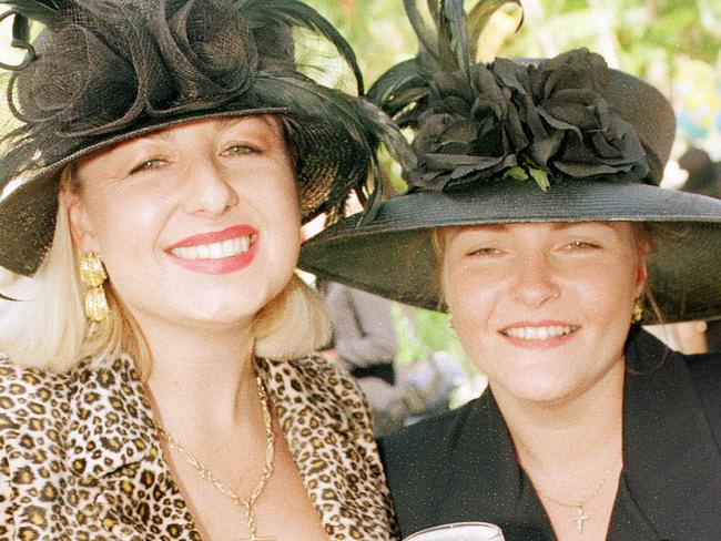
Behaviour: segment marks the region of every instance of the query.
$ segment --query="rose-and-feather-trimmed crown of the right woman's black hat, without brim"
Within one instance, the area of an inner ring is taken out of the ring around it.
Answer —
[[[460,0],[435,2],[434,31],[406,2],[420,52],[369,95],[414,129],[418,161],[404,172],[410,191],[504,176],[542,190],[573,178],[658,185],[676,131],[663,95],[588,49],[476,63],[468,40],[502,3],[467,16]]]

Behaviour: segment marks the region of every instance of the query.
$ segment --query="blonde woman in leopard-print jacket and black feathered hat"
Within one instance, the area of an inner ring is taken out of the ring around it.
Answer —
[[[0,200],[0,539],[395,539],[370,420],[313,355],[301,224],[382,116],[301,72],[295,0],[17,0]],[[30,40],[29,21],[44,25]],[[299,52],[298,52],[299,54]]]

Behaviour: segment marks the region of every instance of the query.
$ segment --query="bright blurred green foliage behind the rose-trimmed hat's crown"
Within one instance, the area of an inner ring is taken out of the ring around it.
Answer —
[[[416,52],[402,0],[307,1],[353,43],[367,84]],[[476,1],[466,1],[467,8]],[[721,1],[521,2],[525,21],[520,30],[514,32],[519,10],[507,6],[484,35],[481,60],[496,55],[554,57],[588,47],[603,54],[611,67],[660,88],[679,114],[680,143],[692,142],[721,160]]]

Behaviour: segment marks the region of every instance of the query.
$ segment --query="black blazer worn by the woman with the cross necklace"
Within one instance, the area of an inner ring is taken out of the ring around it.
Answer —
[[[627,348],[623,470],[608,540],[721,540],[721,355],[670,353],[644,331]],[[555,539],[490,391],[380,441],[403,535],[498,524],[507,541]]]

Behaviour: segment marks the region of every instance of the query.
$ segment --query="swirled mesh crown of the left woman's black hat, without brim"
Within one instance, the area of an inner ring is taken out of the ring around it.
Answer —
[[[227,0],[67,3],[41,33],[35,60],[14,74],[11,109],[67,139],[217,106],[242,95],[263,67],[253,22]],[[277,59],[277,27],[254,25]],[[293,72],[292,58],[285,68]]]

